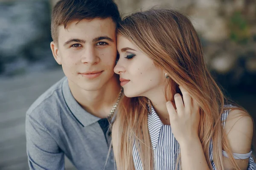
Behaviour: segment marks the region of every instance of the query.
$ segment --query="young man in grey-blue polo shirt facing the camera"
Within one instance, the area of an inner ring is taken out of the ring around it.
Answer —
[[[52,54],[66,77],[41,95],[26,113],[31,170],[63,170],[64,155],[78,170],[105,166],[107,117],[120,97],[114,75],[116,25],[113,0],[60,0],[52,11]]]

